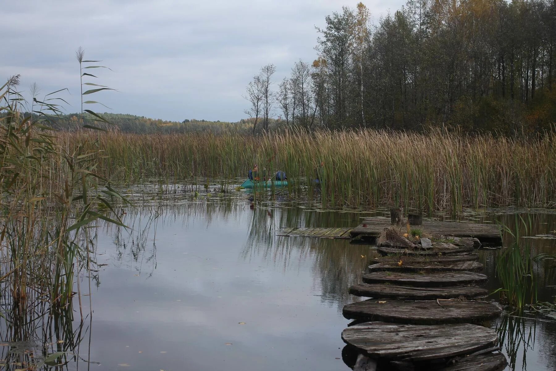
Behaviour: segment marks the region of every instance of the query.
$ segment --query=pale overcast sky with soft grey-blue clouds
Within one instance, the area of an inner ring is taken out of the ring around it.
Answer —
[[[404,2],[365,4],[376,20]],[[87,97],[105,103],[110,112],[236,121],[245,117],[245,85],[261,66],[274,63],[280,81],[300,58],[312,62],[315,26],[324,26],[325,16],[342,6],[355,5],[346,0],[6,0],[3,19],[10,24],[3,29],[0,79],[21,73],[20,89],[28,91],[36,82],[41,94],[67,87],[69,93],[59,96],[71,104],[67,112],[77,112],[75,50],[82,46],[86,59],[102,60],[113,70],[88,70],[100,77],[91,82],[117,89]]]

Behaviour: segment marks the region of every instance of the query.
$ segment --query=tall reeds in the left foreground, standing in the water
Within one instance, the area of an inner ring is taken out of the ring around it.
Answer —
[[[97,206],[125,200],[96,172],[95,135],[62,147],[48,126],[58,98],[33,97],[33,115],[24,115],[17,86],[12,77],[0,87],[0,290],[22,313],[39,302],[62,313],[77,296],[83,318],[76,278],[93,264],[88,227],[97,219],[122,225]]]

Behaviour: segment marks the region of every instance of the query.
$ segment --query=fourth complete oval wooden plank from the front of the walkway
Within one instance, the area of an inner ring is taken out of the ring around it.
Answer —
[[[370,284],[390,283],[421,287],[441,287],[484,283],[488,277],[474,272],[430,272],[427,274],[376,271],[363,275],[363,281]]]

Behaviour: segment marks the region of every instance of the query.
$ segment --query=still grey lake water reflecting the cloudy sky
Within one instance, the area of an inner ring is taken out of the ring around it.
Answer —
[[[355,226],[361,217],[385,210],[324,211],[280,197],[251,207],[252,195],[245,192],[196,198],[189,192],[129,194],[135,206],[122,211],[132,230],[104,224],[96,230],[98,266],[80,282],[83,291],[88,285],[92,291],[91,298],[83,297],[83,324],[76,305],[69,325],[50,332],[43,323],[33,335],[36,342],[53,344],[52,350],[78,352],[62,369],[349,369],[340,338],[349,320],[341,310],[360,300],[347,289],[361,281],[377,256],[374,249],[275,234],[289,226]],[[465,212],[460,218],[512,224],[515,213]],[[533,221],[532,236],[556,230],[552,211],[522,215]],[[535,254],[556,253],[554,239],[528,240]],[[491,291],[500,287],[494,278],[497,253],[480,253]],[[550,265],[538,264],[539,300],[554,303],[556,269]],[[504,316],[497,325],[508,329],[503,339],[512,361],[508,369],[556,369],[556,318]],[[56,329],[56,323],[48,328]],[[2,340],[31,340],[16,333],[11,329]],[[4,369],[17,369],[8,352],[4,346]]]

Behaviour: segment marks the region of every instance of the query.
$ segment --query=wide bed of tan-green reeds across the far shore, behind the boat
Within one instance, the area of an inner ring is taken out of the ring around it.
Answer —
[[[61,144],[70,148],[81,135],[64,133]],[[286,130],[261,136],[108,132],[98,138],[97,160],[103,175],[130,182],[194,176],[225,182],[246,177],[257,164],[271,174],[286,171],[290,192],[320,194],[325,206],[460,211],[555,206],[555,144],[553,133],[508,138],[444,130]]]

